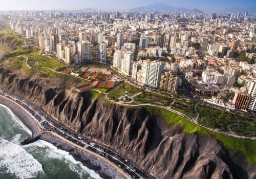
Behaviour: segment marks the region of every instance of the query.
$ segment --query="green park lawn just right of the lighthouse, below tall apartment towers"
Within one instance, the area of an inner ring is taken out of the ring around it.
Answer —
[[[151,103],[158,105],[170,105],[174,100],[156,93],[144,93],[134,97],[136,103]]]

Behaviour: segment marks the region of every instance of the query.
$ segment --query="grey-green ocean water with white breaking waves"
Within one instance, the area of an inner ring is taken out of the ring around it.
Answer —
[[[0,104],[0,179],[101,178],[67,151],[46,141],[20,146],[32,132],[4,105]]]

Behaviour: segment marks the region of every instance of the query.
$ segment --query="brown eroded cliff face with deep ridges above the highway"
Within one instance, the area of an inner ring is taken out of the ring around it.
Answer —
[[[223,149],[214,137],[169,128],[160,114],[76,93],[64,83],[23,77],[0,67],[0,85],[61,123],[135,162],[156,178],[255,178],[256,166]]]

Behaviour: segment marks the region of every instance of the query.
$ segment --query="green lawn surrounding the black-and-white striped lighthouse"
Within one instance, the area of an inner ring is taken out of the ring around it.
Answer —
[[[142,91],[142,89],[133,86],[129,83],[123,83],[122,85],[120,85],[119,87],[117,87],[113,92],[111,92],[108,97],[111,100],[115,100],[118,101],[118,97],[120,96],[124,96],[125,95],[125,90],[128,89],[128,96],[133,96],[139,92]]]

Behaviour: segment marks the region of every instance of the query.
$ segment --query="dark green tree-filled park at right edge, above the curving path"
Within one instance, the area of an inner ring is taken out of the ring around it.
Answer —
[[[238,125],[232,126],[231,130],[236,132],[238,135],[247,136],[247,137],[255,137],[255,121],[253,117],[247,116],[243,117],[239,114],[232,114],[225,110],[219,110],[215,108],[211,108],[205,105],[198,105],[197,110],[200,114],[198,122],[211,127],[218,128],[221,131],[228,131],[228,126],[231,124],[239,123]],[[250,121],[249,122],[247,122]]]

